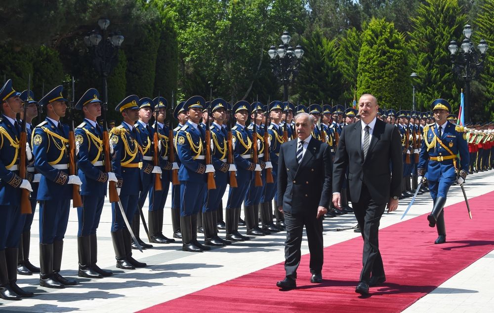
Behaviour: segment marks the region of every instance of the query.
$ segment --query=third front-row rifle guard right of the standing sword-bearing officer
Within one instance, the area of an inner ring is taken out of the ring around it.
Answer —
[[[229,240],[223,240],[218,236],[217,211],[222,203],[228,185],[230,171],[236,171],[235,164],[228,164],[228,132],[223,125],[229,104],[224,99],[214,99],[211,104],[213,122],[209,127],[211,131],[211,163],[215,169],[214,182],[216,189],[206,192],[202,209],[204,242],[210,246],[225,246],[231,244]]]

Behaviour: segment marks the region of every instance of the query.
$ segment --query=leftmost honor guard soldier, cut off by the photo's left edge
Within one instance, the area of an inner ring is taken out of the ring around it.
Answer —
[[[17,285],[18,246],[25,220],[21,216],[21,189],[33,191],[29,181],[19,177],[19,155],[26,153],[32,158],[29,146],[19,147],[21,126],[16,115],[23,110],[19,95],[10,79],[0,90],[0,298],[4,300],[34,295]]]

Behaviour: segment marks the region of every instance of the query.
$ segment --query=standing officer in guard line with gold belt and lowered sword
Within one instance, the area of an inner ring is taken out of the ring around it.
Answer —
[[[124,121],[110,131],[110,145],[113,145],[115,156],[112,158],[113,171],[117,175],[117,191],[120,202],[112,203],[112,241],[117,259],[117,268],[134,270],[145,267],[146,263],[138,262],[132,257],[131,235],[124,223],[125,217],[130,225],[134,218],[142,191],[142,173],[151,174],[153,165],[143,166],[141,138],[134,123],[139,116],[139,97],[130,95],[120,102],[115,111],[120,112]],[[122,204],[122,208],[120,208]]]

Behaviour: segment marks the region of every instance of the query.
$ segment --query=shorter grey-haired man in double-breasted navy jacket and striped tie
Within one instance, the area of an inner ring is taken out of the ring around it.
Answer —
[[[305,226],[310,252],[311,282],[323,281],[323,219],[331,200],[331,154],[328,144],[311,136],[314,117],[300,113],[295,117],[296,140],[281,146],[278,160],[278,210],[285,214],[286,277],[276,285],[296,287],[300,264],[300,245]]]

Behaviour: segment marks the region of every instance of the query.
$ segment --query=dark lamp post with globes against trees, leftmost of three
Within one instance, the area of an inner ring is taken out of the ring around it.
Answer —
[[[108,109],[106,78],[117,65],[119,48],[124,42],[124,36],[118,30],[108,33],[108,26],[110,26],[110,20],[100,18],[98,20],[99,30],[95,29],[84,37],[84,44],[88,47],[93,57],[94,69],[103,78],[104,110]]]

